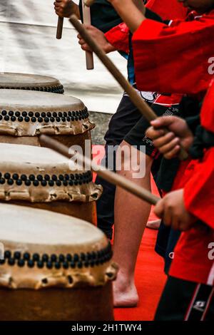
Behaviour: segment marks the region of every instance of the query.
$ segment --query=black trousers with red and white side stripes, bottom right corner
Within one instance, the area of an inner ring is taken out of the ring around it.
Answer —
[[[214,288],[168,277],[155,321],[213,321]]]

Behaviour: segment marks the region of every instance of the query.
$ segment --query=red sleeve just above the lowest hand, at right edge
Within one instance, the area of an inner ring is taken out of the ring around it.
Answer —
[[[188,212],[214,229],[214,148],[202,162],[195,163],[193,175],[184,187],[184,202]]]

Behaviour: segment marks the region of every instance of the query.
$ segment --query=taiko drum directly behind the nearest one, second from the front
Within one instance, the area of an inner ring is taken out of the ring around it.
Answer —
[[[102,187],[51,149],[0,143],[0,201],[60,212],[96,224]]]

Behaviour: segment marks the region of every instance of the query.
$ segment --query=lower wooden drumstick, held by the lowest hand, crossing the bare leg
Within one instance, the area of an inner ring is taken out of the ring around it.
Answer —
[[[86,156],[83,156],[80,153],[72,151],[71,149],[66,147],[66,145],[63,145],[62,143],[54,140],[53,138],[50,138],[49,136],[41,135],[39,136],[39,141],[41,145],[55,150],[58,153],[61,153],[61,155],[66,156],[67,158],[71,158],[71,156],[76,155],[78,161],[81,161],[83,165],[87,165],[88,168],[96,172],[97,175],[102,177],[104,180],[111,182],[111,184],[113,185],[122,187],[124,190],[132,193],[133,195],[136,195],[137,197],[150,203],[151,205],[156,205],[157,202],[160,200],[159,197],[156,197],[156,195],[153,195],[145,188],[136,185],[134,182],[131,182],[130,180],[126,179],[121,175],[117,175],[115,172],[106,170],[105,168],[97,165],[96,163],[93,163],[93,160],[86,158]]]

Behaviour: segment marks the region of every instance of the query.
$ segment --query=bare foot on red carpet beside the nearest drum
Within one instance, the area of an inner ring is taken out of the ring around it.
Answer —
[[[113,282],[113,305],[115,307],[136,307],[139,301],[136,285],[129,282],[121,272]]]

